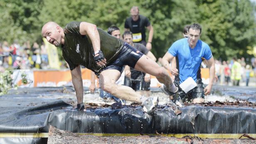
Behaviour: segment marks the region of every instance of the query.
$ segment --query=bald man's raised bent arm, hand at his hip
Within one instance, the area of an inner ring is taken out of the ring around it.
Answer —
[[[100,35],[98,34],[98,29],[96,25],[91,24],[89,22],[81,22],[79,27],[79,32],[81,35],[89,36],[94,49],[94,54],[95,56],[99,56],[100,50],[101,50],[101,41],[100,41]],[[98,66],[105,66],[105,64],[106,64],[105,58],[97,62]]]

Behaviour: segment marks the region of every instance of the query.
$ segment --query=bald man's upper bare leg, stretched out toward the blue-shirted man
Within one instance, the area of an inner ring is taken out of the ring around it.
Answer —
[[[160,83],[163,83],[168,90],[173,91],[175,88],[172,83],[172,78],[166,72],[165,68],[160,67],[155,61],[149,59],[147,56],[143,55],[135,65],[135,69],[148,73],[152,76],[155,76]],[[177,89],[175,89],[177,90]]]

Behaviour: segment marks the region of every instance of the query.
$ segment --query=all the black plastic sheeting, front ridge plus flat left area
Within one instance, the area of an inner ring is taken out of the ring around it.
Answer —
[[[81,112],[72,110],[71,105],[62,100],[43,99],[37,91],[38,88],[30,93],[23,91],[0,97],[0,133],[48,132],[49,125],[79,133],[256,133],[255,107],[185,106],[177,115],[173,107],[160,106],[152,116],[144,113],[142,107],[116,110],[109,107]],[[59,89],[48,88],[44,95],[52,93],[60,94]],[[30,100],[37,105],[29,105]],[[0,143],[45,143],[46,140],[0,138]]]

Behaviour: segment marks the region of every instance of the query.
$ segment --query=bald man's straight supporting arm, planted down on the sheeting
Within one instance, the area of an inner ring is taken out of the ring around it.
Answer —
[[[76,68],[74,68],[71,71],[71,77],[72,77],[72,83],[76,91],[77,104],[83,103],[84,88],[83,88],[80,65],[78,65]]]

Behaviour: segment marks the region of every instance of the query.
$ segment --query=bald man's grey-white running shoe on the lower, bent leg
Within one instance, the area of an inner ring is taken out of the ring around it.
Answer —
[[[151,114],[154,107],[158,105],[158,97],[150,97],[142,103],[144,112]]]

